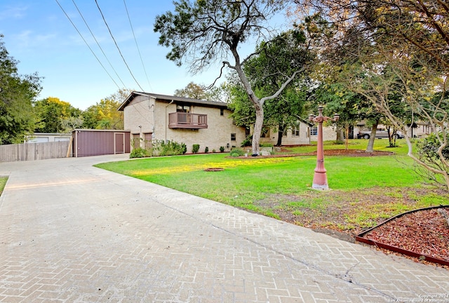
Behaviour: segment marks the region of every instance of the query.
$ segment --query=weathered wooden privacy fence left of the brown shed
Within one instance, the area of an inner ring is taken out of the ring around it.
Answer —
[[[32,161],[72,156],[71,141],[0,145],[0,162]]]

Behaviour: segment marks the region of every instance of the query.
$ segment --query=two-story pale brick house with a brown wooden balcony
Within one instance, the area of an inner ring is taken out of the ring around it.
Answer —
[[[131,93],[120,105],[124,128],[130,130],[133,148],[151,147],[152,140],[175,141],[187,146],[193,144],[199,152],[219,151],[225,147],[240,147],[246,138],[246,129],[229,119],[231,111],[225,102],[197,100],[188,97]]]

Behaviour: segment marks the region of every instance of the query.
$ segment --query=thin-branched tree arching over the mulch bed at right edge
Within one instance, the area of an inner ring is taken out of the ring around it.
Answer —
[[[449,75],[449,7],[444,1],[316,1],[330,12],[338,29],[328,40],[327,60],[338,66],[352,60],[353,69],[343,78],[348,88],[371,100],[392,125],[406,135],[408,155],[421,166],[443,177],[449,190],[448,170],[422,161],[413,152],[408,126],[427,121],[440,143],[448,146],[449,115],[446,81]],[[340,14],[337,12],[340,11]],[[351,22],[347,22],[348,19]],[[337,50],[337,51],[335,51]],[[441,93],[438,100],[432,98]],[[411,117],[411,119],[410,119]],[[411,123],[410,123],[411,121]]]

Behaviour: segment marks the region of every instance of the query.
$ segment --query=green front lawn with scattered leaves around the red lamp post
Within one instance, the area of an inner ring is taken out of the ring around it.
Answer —
[[[351,140],[349,149],[365,149],[367,140]],[[401,147],[387,148],[375,140],[375,150],[394,156],[327,156],[328,183],[333,191],[311,190],[316,156],[236,159],[229,154],[205,154],[102,163],[98,167],[210,198],[279,220],[307,227],[358,231],[392,215],[424,206],[446,204],[447,195],[432,192],[415,173]],[[326,142],[325,149],[344,149]],[[316,146],[293,147],[307,153]],[[205,172],[205,168],[225,168]]]

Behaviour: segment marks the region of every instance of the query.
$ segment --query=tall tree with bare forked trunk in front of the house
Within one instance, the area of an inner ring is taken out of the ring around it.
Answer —
[[[175,13],[158,15],[154,32],[159,32],[159,44],[171,48],[168,60],[182,65],[187,62],[191,72],[201,72],[217,60],[222,60],[222,69],[233,69],[239,76],[249,100],[255,107],[253,133],[253,154],[259,154],[260,134],[264,121],[263,105],[267,100],[278,97],[299,71],[285,75],[283,85],[272,95],[257,97],[243,64],[248,58],[241,58],[241,43],[250,39],[272,37],[275,32],[268,21],[286,8],[289,1],[271,0],[180,0],[174,2]],[[267,39],[270,41],[271,39]],[[227,60],[231,55],[233,63]],[[273,71],[278,72],[278,71]]]

